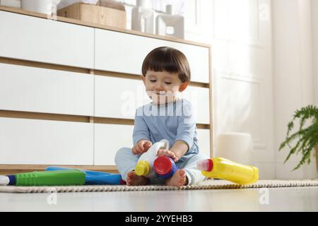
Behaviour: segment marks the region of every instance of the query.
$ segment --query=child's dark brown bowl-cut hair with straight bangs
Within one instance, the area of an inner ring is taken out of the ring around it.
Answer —
[[[179,50],[171,47],[158,47],[148,53],[141,67],[143,76],[146,76],[146,72],[149,70],[177,73],[182,83],[191,79],[187,57]]]

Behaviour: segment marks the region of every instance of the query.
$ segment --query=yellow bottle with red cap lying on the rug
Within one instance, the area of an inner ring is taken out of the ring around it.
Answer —
[[[259,169],[252,165],[242,165],[223,157],[201,160],[197,163],[206,177],[225,179],[236,184],[253,184],[259,180]]]

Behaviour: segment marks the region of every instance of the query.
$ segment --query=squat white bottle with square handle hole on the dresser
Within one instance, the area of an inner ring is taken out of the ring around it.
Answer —
[[[155,33],[184,39],[184,17],[173,15],[172,5],[165,7],[167,15],[158,15],[155,18]]]

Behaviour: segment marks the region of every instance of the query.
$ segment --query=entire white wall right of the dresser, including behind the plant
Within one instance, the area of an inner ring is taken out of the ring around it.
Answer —
[[[278,147],[295,109],[318,106],[318,1],[211,2],[201,1],[200,15],[190,13],[205,22],[197,32],[203,37],[189,30],[187,37],[203,42],[212,35],[214,137],[251,133],[261,179],[317,178],[314,157],[291,172],[300,157],[284,165],[288,150]]]

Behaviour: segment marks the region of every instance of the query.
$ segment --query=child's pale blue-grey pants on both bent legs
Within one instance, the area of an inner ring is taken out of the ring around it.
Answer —
[[[122,174],[122,179],[126,181],[127,174],[135,169],[140,155],[134,155],[131,148],[120,148],[115,156],[115,163],[119,173]],[[199,160],[205,160],[208,157],[206,155],[197,154],[191,157],[182,167],[186,172],[188,185],[197,184],[204,181],[206,177],[201,174],[200,169],[196,169],[196,162]],[[165,179],[155,178],[151,179],[151,184],[165,184]]]

